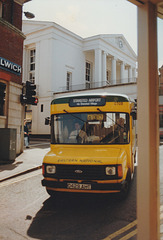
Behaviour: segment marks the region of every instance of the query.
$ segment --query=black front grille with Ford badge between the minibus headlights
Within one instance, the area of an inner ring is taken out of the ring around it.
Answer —
[[[44,176],[58,179],[76,179],[76,180],[109,180],[118,178],[117,174],[114,176],[108,176],[105,174],[105,168],[108,165],[93,165],[93,166],[55,165],[55,166],[56,166],[55,174],[47,174],[45,171]]]

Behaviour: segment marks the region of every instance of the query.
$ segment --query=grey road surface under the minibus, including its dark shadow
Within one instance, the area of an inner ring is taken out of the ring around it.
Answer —
[[[0,183],[1,240],[105,240],[136,220],[136,174],[126,200],[110,195],[49,197],[41,169]],[[128,239],[128,238],[126,238]],[[136,238],[130,238],[136,239]]]

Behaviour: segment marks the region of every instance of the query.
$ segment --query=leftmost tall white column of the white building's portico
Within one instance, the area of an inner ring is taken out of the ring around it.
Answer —
[[[101,84],[101,49],[95,49],[95,83]],[[100,85],[99,85],[100,86]]]

